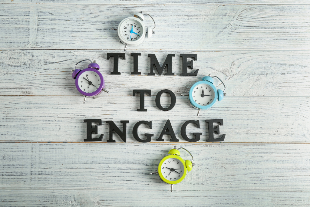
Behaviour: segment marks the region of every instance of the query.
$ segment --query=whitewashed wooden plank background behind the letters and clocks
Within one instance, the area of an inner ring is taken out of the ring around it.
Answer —
[[[0,0],[0,8],[0,206],[310,206],[309,1]],[[128,47],[122,75],[110,75],[107,53],[124,47],[110,28],[137,11],[153,16],[156,33]],[[140,76],[130,75],[131,52],[141,53]],[[161,64],[175,54],[175,76],[148,76],[148,53]],[[187,53],[197,54],[197,77],[179,76]],[[71,77],[82,59],[97,61],[110,91],[85,104]],[[209,73],[227,96],[197,117],[180,95]],[[133,89],[152,90],[147,112],[136,111]],[[177,96],[167,112],[155,105],[163,89]],[[83,120],[94,118],[103,142],[84,143]],[[179,143],[156,142],[167,119]],[[186,142],[180,128],[197,119],[188,135],[201,140]],[[223,119],[215,137],[226,134],[224,142],[205,141],[205,119]],[[126,143],[117,134],[106,143],[107,120],[121,129],[129,120]],[[141,120],[153,121],[139,128],[154,134],[151,143],[132,136]],[[150,172],[173,146],[196,166],[170,192]]]

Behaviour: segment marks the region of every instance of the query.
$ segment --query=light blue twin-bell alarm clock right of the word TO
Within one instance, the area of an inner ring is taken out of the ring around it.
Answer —
[[[224,90],[216,89],[213,85],[213,77],[211,77],[210,74],[209,76],[203,77],[202,81],[196,82],[191,87],[188,94],[181,94],[182,96],[188,95],[189,105],[198,109],[197,116],[199,116],[201,110],[211,108],[215,104],[216,100],[221,101],[224,98],[224,91],[226,87],[223,81],[219,79],[219,77],[216,77],[223,83]]]

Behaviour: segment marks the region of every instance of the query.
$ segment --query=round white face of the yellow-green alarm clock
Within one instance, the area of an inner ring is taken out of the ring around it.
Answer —
[[[176,158],[169,158],[162,163],[161,173],[167,180],[176,181],[184,174],[183,163]]]

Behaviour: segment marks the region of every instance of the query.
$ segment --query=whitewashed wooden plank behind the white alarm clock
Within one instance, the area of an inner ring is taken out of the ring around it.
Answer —
[[[145,11],[156,20],[156,33],[137,50],[309,49],[309,7],[2,4],[0,48],[121,50],[110,28]]]

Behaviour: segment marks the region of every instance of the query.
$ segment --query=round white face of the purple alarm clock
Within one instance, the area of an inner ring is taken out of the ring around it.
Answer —
[[[93,93],[100,87],[101,80],[97,73],[85,71],[78,78],[79,87],[85,93]]]

